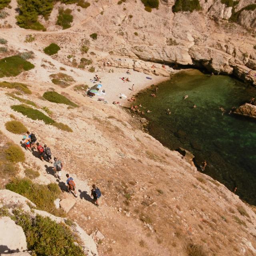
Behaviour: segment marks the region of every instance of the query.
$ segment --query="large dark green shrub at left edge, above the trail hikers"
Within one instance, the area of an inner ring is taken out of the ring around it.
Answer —
[[[18,76],[22,71],[28,71],[35,66],[23,60],[20,56],[11,56],[0,60],[0,77]]]

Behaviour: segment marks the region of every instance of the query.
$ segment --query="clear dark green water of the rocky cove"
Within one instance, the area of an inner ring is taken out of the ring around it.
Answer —
[[[198,165],[206,160],[204,173],[232,191],[237,187],[240,198],[256,205],[256,121],[228,114],[233,106],[255,97],[256,88],[198,70],[158,84],[156,98],[150,96],[155,88],[142,91],[135,102],[150,120],[150,134],[171,150],[191,151]],[[148,109],[152,112],[146,113]]]

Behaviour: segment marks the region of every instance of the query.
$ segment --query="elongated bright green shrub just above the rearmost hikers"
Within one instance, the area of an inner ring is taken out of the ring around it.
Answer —
[[[54,123],[54,120],[52,120],[52,118],[50,118],[49,116],[46,116],[41,111],[34,108],[30,108],[25,104],[14,105],[14,106],[11,106],[11,108],[12,110],[16,112],[20,112],[21,114],[23,114],[24,116],[27,116],[28,118],[31,118],[32,120],[37,120],[37,119],[42,120],[44,121],[45,124]]]

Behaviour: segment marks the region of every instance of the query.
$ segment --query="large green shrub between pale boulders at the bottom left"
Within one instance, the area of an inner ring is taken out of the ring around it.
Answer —
[[[8,216],[8,211],[1,212]],[[13,210],[13,214],[12,219],[24,230],[32,255],[84,256],[82,248],[75,244],[79,243],[76,234],[67,224],[57,223],[49,217],[31,216],[20,210]]]

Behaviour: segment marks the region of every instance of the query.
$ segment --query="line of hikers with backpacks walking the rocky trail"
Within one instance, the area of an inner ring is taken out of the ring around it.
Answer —
[[[30,152],[34,152],[34,150],[37,150],[39,157],[42,161],[44,161],[46,159],[46,161],[48,161],[52,164],[52,152],[51,152],[50,148],[46,144],[44,144],[44,146],[42,146],[42,144],[37,142],[37,138],[36,138],[35,134],[26,132],[26,135],[23,136],[23,143],[24,143],[26,150],[30,150]],[[54,160],[54,163],[53,163],[54,176],[56,174],[60,180],[63,164],[56,157],[54,157],[53,160]],[[78,197],[74,179],[72,177],[70,177],[69,174],[66,174],[66,177],[67,177],[66,184],[68,186],[68,193],[71,193],[71,191],[72,191],[74,193],[74,196]],[[94,204],[96,206],[99,206],[98,200],[99,200],[100,196],[101,196],[100,189],[98,187],[96,187],[95,184],[93,184],[92,190],[91,190],[91,197],[93,198]]]

